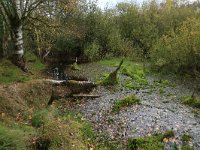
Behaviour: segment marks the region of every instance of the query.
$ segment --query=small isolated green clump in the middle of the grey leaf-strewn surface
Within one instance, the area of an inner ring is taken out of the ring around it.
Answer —
[[[134,104],[139,104],[140,100],[136,95],[129,95],[121,100],[114,103],[112,107],[112,112],[119,112],[122,108],[128,107]]]

